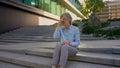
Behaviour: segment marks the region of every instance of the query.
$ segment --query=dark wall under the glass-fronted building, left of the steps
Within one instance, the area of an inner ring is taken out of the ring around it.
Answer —
[[[26,25],[38,25],[38,15],[0,3],[0,33]]]

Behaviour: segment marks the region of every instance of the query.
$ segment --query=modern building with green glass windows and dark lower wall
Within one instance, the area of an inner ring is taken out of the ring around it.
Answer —
[[[64,12],[85,18],[78,0],[0,0],[0,33],[28,25],[51,25]]]

